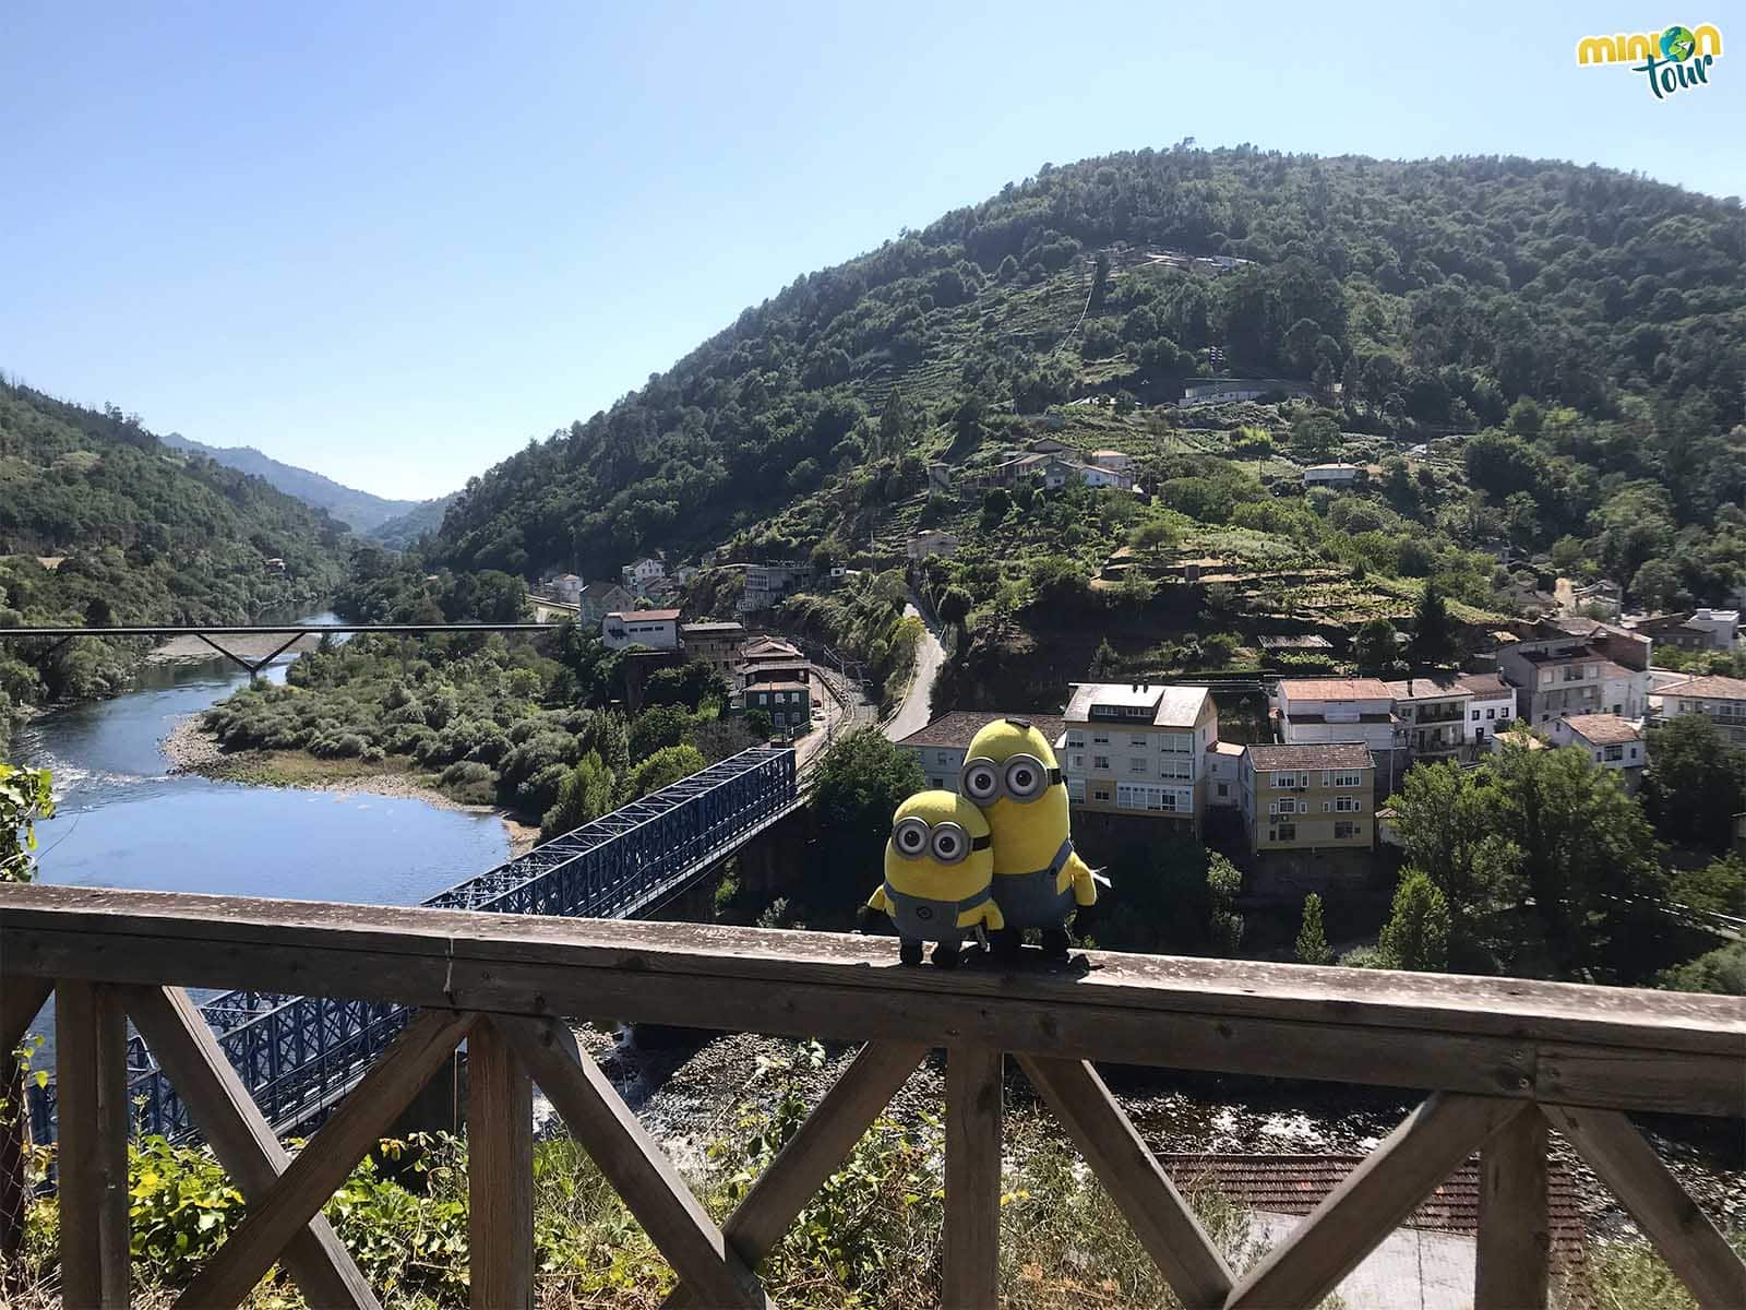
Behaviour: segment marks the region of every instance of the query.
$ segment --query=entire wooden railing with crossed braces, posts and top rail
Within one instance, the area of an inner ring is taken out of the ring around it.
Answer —
[[[946,1307],[995,1307],[1002,1062],[1013,1055],[1187,1307],[1315,1305],[1472,1153],[1475,1307],[1543,1305],[1547,1128],[1704,1307],[1746,1266],[1627,1111],[1746,1116],[1730,997],[1285,964],[1093,955],[1084,973],[903,968],[896,943],[690,924],[0,887],[0,1048],[56,994],[61,1277],[127,1301],[126,1020],[157,1053],[248,1217],[180,1307],[241,1301],[274,1261],[311,1305],[375,1307],[321,1205],[464,1038],[475,1307],[533,1301],[531,1088],[670,1261],[669,1305],[761,1307],[756,1268],[931,1046],[946,1050]],[[183,987],[419,1006],[292,1160]],[[866,1043],[718,1226],[562,1017]],[[1423,1104],[1247,1273],[1229,1268],[1091,1060],[1423,1088]]]

